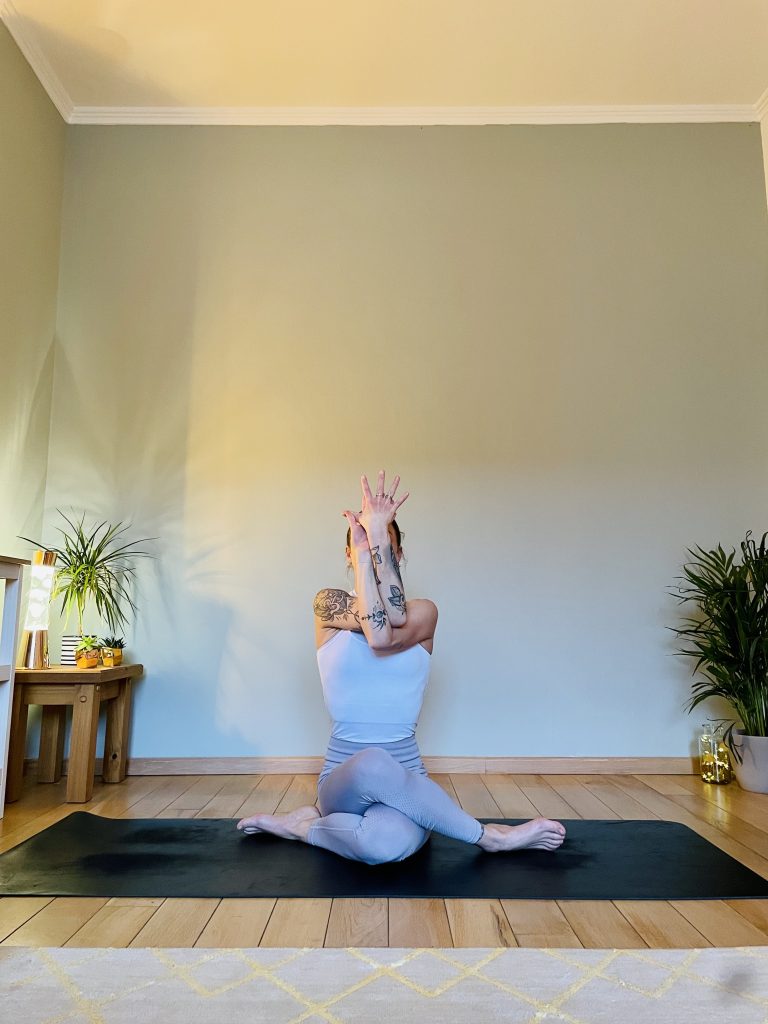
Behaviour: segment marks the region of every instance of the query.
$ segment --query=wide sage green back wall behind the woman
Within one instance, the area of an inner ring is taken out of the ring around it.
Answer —
[[[666,588],[768,511],[758,124],[68,144],[47,507],[160,538],[134,757],[323,753],[312,597],[381,466],[425,755],[689,753]]]

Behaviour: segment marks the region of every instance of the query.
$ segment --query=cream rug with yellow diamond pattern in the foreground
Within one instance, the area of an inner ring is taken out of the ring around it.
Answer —
[[[0,948],[3,1024],[768,1022],[768,946]]]

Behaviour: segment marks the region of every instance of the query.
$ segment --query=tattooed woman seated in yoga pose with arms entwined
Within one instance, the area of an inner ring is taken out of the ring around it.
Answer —
[[[323,693],[333,719],[317,779],[317,807],[288,814],[254,814],[244,831],[268,831],[333,850],[349,860],[381,864],[404,860],[432,831],[474,843],[488,853],[556,850],[565,828],[534,818],[520,825],[483,825],[429,778],[416,742],[429,677],[437,608],[406,604],[395,501],[399,477],[384,493],[362,484],[362,509],[347,510],[347,564],[354,589],[322,590],[314,624]],[[407,613],[408,612],[408,613]]]

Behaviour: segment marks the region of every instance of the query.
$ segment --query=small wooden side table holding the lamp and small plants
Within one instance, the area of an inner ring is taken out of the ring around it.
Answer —
[[[57,782],[61,777],[65,716],[72,705],[70,768],[67,800],[82,804],[93,794],[96,761],[98,712],[106,703],[103,780],[122,782],[128,746],[131,713],[131,684],[143,673],[141,665],[121,665],[115,669],[16,669],[8,752],[8,803],[22,795],[24,755],[27,745],[27,716],[30,705],[42,705],[38,781]]]

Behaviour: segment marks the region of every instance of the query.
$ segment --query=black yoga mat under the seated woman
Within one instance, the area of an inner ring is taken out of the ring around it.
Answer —
[[[433,833],[413,856],[384,864],[234,824],[76,811],[0,856],[0,895],[768,898],[768,881],[675,821],[567,820],[552,852],[485,853]]]

